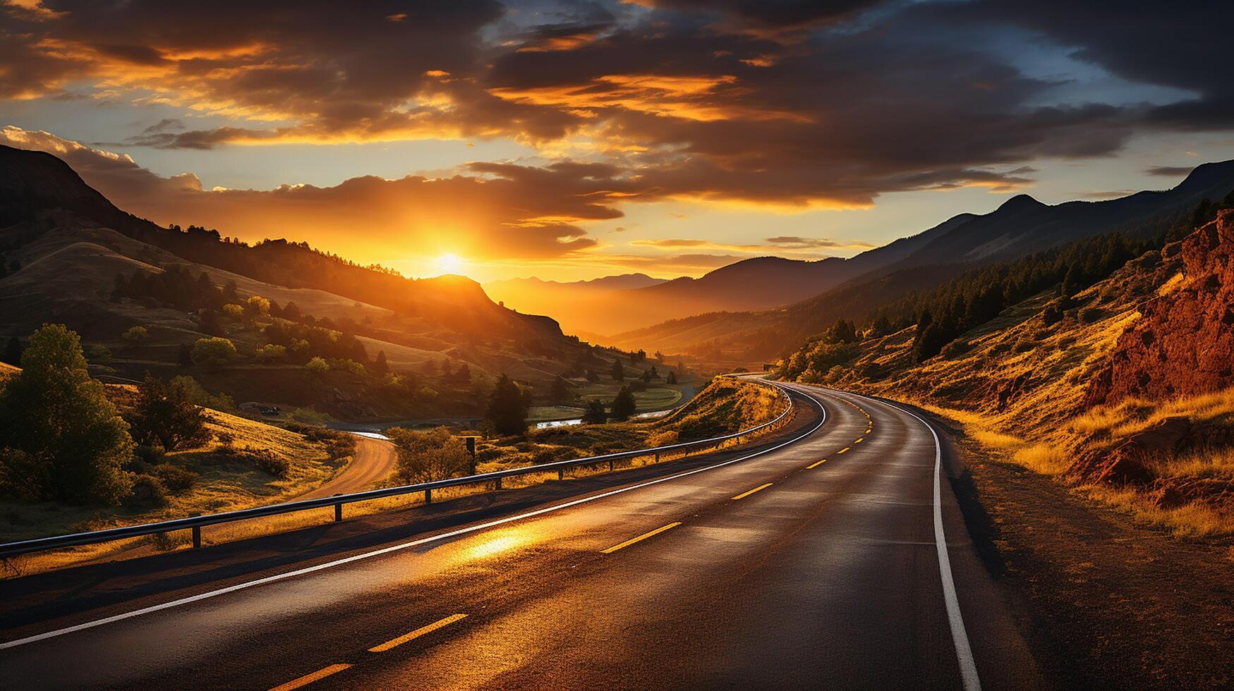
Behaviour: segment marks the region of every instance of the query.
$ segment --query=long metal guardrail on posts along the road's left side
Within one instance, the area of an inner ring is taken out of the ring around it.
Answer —
[[[286,503],[271,503],[269,506],[255,506],[253,508],[241,508],[237,511],[225,511],[222,513],[209,513],[206,516],[191,516],[188,518],[174,518],[172,521],[159,521],[157,523],[141,523],[137,526],[123,526],[120,528],[107,528],[104,531],[91,531],[86,533],[73,533],[68,536],[53,536],[46,538],[36,538],[28,540],[19,540],[0,544],[0,558],[15,557],[19,554],[27,554],[31,552],[43,552],[48,549],[59,549],[64,547],[77,547],[81,544],[97,544],[104,542],[112,542],[120,539],[136,538],[142,536],[153,536],[158,533],[168,533],[172,531],[193,531],[193,547],[201,547],[201,528],[202,526],[213,526],[216,523],[230,523],[233,521],[246,521],[248,518],[263,518],[267,516],[278,516],[281,513],[294,513],[296,511],[308,511],[313,508],[325,508],[327,506],[334,507],[334,521],[343,519],[343,505],[354,503],[359,501],[369,501],[375,499],[385,499],[391,496],[411,495],[424,492],[424,501],[431,502],[433,496],[433,490],[439,490],[444,487],[457,487],[460,485],[475,485],[484,482],[494,482],[494,489],[501,489],[501,480],[505,478],[515,478],[518,475],[533,475],[538,473],[548,473],[557,470],[558,479],[564,479],[565,469],[579,468],[585,465],[603,465],[608,464],[608,470],[615,470],[615,461],[638,458],[644,455],[655,455],[659,460],[660,454],[666,452],[681,450],[686,448],[702,448],[713,444],[721,444],[729,439],[740,441],[742,437],[755,434],[764,429],[768,429],[780,422],[782,422],[790,412],[792,412],[792,399],[789,396],[784,386],[774,383],[765,383],[775,386],[776,390],[784,396],[787,406],[784,412],[776,416],[774,420],[764,422],[763,424],[750,427],[749,429],[742,429],[740,432],[734,432],[732,434],[724,434],[721,437],[712,437],[710,439],[697,439],[694,442],[680,442],[676,444],[668,444],[664,447],[653,447],[649,449],[636,449],[629,452],[618,452],[605,455],[594,455],[587,458],[576,458],[570,460],[558,460],[553,463],[544,463],[540,465],[528,465],[524,468],[510,468],[506,470],[496,470],[494,473],[481,473],[479,475],[465,475],[462,478],[448,478],[445,480],[434,480],[432,482],[420,482],[416,485],[404,485],[399,487],[384,487],[380,490],[368,490],[364,492],[353,492],[347,495],[334,495],[328,497],[308,499],[302,501],[290,501]]]

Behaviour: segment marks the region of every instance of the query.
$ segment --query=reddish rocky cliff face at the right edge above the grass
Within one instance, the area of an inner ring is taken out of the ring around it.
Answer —
[[[1087,405],[1162,400],[1234,386],[1234,210],[1182,241],[1185,283],[1140,307],[1088,386]]]

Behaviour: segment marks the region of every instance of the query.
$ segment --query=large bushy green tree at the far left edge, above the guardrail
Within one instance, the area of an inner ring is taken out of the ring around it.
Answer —
[[[43,325],[0,390],[0,484],[31,499],[115,503],[132,486],[128,424],[91,379],[81,341]]]

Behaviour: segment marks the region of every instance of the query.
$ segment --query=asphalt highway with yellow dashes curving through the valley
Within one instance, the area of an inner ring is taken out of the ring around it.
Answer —
[[[802,402],[755,449],[560,484],[542,491],[587,494],[495,505],[462,527],[404,526],[360,547],[353,536],[337,543],[346,550],[254,558],[247,570],[209,548],[193,566],[168,557],[139,577],[0,584],[11,595],[0,679],[9,689],[1043,686],[946,478],[937,482],[930,429],[884,402],[800,390],[826,422]]]

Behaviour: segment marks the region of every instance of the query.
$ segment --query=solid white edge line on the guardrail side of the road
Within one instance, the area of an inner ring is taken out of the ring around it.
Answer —
[[[798,391],[798,394],[801,394],[801,391]],[[26,638],[19,638],[16,640],[9,640],[9,642],[5,642],[5,643],[0,643],[0,650],[5,650],[5,649],[9,649],[9,648],[16,648],[19,645],[26,645],[27,643],[36,643],[38,640],[46,640],[48,638],[56,638],[58,635],[64,635],[67,633],[74,633],[74,632],[84,631],[84,629],[88,629],[88,628],[94,628],[94,627],[100,627],[100,626],[104,626],[104,624],[110,624],[110,623],[118,622],[118,621],[122,621],[122,619],[130,619],[130,618],[133,618],[133,617],[139,617],[142,614],[149,614],[149,613],[158,612],[158,611],[162,611],[162,610],[170,610],[172,607],[180,607],[183,605],[189,605],[189,603],[197,602],[197,601],[201,601],[201,600],[207,600],[210,597],[217,597],[220,595],[227,595],[228,592],[236,592],[237,590],[246,590],[246,589],[249,589],[249,587],[254,587],[254,586],[259,586],[259,585],[265,585],[265,584],[269,584],[269,582],[281,581],[281,580],[291,579],[291,577],[295,577],[295,576],[302,576],[305,574],[311,574],[313,571],[321,571],[321,570],[325,570],[325,569],[331,569],[333,566],[341,566],[343,564],[350,564],[353,561],[359,561],[362,559],[369,559],[371,557],[379,557],[379,555],[383,555],[383,554],[389,554],[391,552],[399,552],[399,550],[402,550],[402,549],[410,549],[412,547],[418,547],[421,544],[426,544],[426,543],[431,543],[431,542],[437,542],[437,540],[445,539],[445,538],[453,538],[453,537],[466,534],[466,533],[474,533],[474,532],[478,532],[478,531],[484,531],[484,529],[492,528],[495,526],[501,526],[501,524],[505,524],[505,523],[510,523],[510,522],[513,522],[513,521],[521,521],[523,518],[531,518],[532,516],[540,516],[540,515],[544,515],[544,513],[550,513],[553,511],[560,511],[563,508],[569,508],[571,506],[578,506],[580,503],[586,503],[586,502],[590,502],[590,501],[596,501],[598,499],[605,499],[605,497],[610,497],[610,496],[613,496],[613,495],[619,495],[622,492],[628,492],[631,490],[638,490],[638,489],[642,489],[642,487],[647,487],[649,485],[658,485],[660,482],[668,482],[669,480],[676,480],[677,478],[685,478],[687,475],[694,475],[696,473],[702,473],[705,470],[714,470],[716,468],[723,468],[726,465],[732,465],[732,464],[742,461],[742,460],[748,460],[748,459],[752,459],[754,457],[759,457],[759,455],[763,455],[765,453],[771,453],[771,452],[774,452],[774,450],[776,450],[779,448],[787,447],[789,444],[793,444],[796,442],[800,442],[801,439],[805,439],[806,437],[808,437],[808,436],[813,434],[814,432],[817,432],[818,428],[822,427],[823,423],[827,422],[827,408],[823,407],[823,405],[821,402],[818,402],[817,400],[814,400],[813,396],[806,395],[806,400],[808,400],[810,402],[814,403],[816,406],[818,406],[818,408],[821,411],[823,411],[823,418],[819,420],[818,424],[816,424],[814,427],[812,427],[808,432],[805,432],[803,434],[793,437],[792,439],[789,439],[787,442],[784,442],[782,444],[776,444],[776,445],[774,445],[774,447],[771,447],[769,449],[763,449],[760,452],[755,452],[755,453],[752,453],[752,454],[748,454],[748,455],[743,455],[740,458],[734,458],[732,460],[726,460],[723,463],[717,463],[716,465],[707,465],[707,466],[703,466],[703,468],[696,468],[694,470],[686,470],[685,473],[677,473],[676,475],[669,475],[669,476],[665,476],[665,478],[656,478],[655,480],[648,480],[647,482],[640,482],[638,485],[631,485],[628,487],[619,487],[619,489],[616,489],[616,490],[612,490],[612,491],[607,491],[607,492],[602,492],[602,494],[598,494],[598,495],[591,495],[591,496],[586,496],[586,497],[582,497],[582,499],[576,499],[576,500],[573,500],[573,501],[568,501],[565,503],[559,503],[559,505],[555,505],[555,506],[548,506],[548,507],[544,507],[544,508],[538,508],[536,511],[528,511],[526,513],[518,513],[516,516],[507,516],[505,518],[497,518],[497,519],[494,519],[494,521],[487,521],[485,523],[479,523],[479,524],[475,524],[475,526],[468,526],[465,528],[459,528],[457,531],[449,531],[449,532],[436,534],[436,536],[431,536],[431,537],[427,537],[427,538],[420,538],[420,539],[415,539],[415,540],[411,540],[411,542],[405,542],[405,543],[401,543],[401,544],[384,547],[381,549],[375,549],[373,552],[365,552],[365,553],[362,553],[362,554],[353,554],[352,557],[346,557],[343,559],[336,559],[333,561],[327,561],[325,564],[317,564],[315,566],[306,566],[304,569],[296,569],[295,571],[288,571],[288,573],[284,573],[284,574],[275,574],[273,576],[265,576],[263,579],[257,579],[257,580],[252,580],[252,581],[244,581],[244,582],[231,585],[231,586],[227,586],[227,587],[221,587],[218,590],[211,590],[211,591],[207,591],[207,592],[201,592],[201,594],[197,594],[197,595],[191,595],[189,597],[181,597],[179,600],[172,600],[169,602],[163,602],[163,603],[159,603],[159,605],[152,605],[149,607],[143,607],[141,610],[133,610],[131,612],[123,612],[123,613],[120,613],[120,614],[114,614],[111,617],[104,617],[101,619],[95,619],[95,621],[91,621],[91,622],[84,622],[84,623],[80,623],[80,624],[74,624],[74,626],[70,626],[70,627],[64,627],[64,628],[59,628],[59,629],[56,629],[56,631],[49,631],[49,632],[46,632],[46,633],[39,633],[39,634],[36,634],[36,635],[28,635]]]

